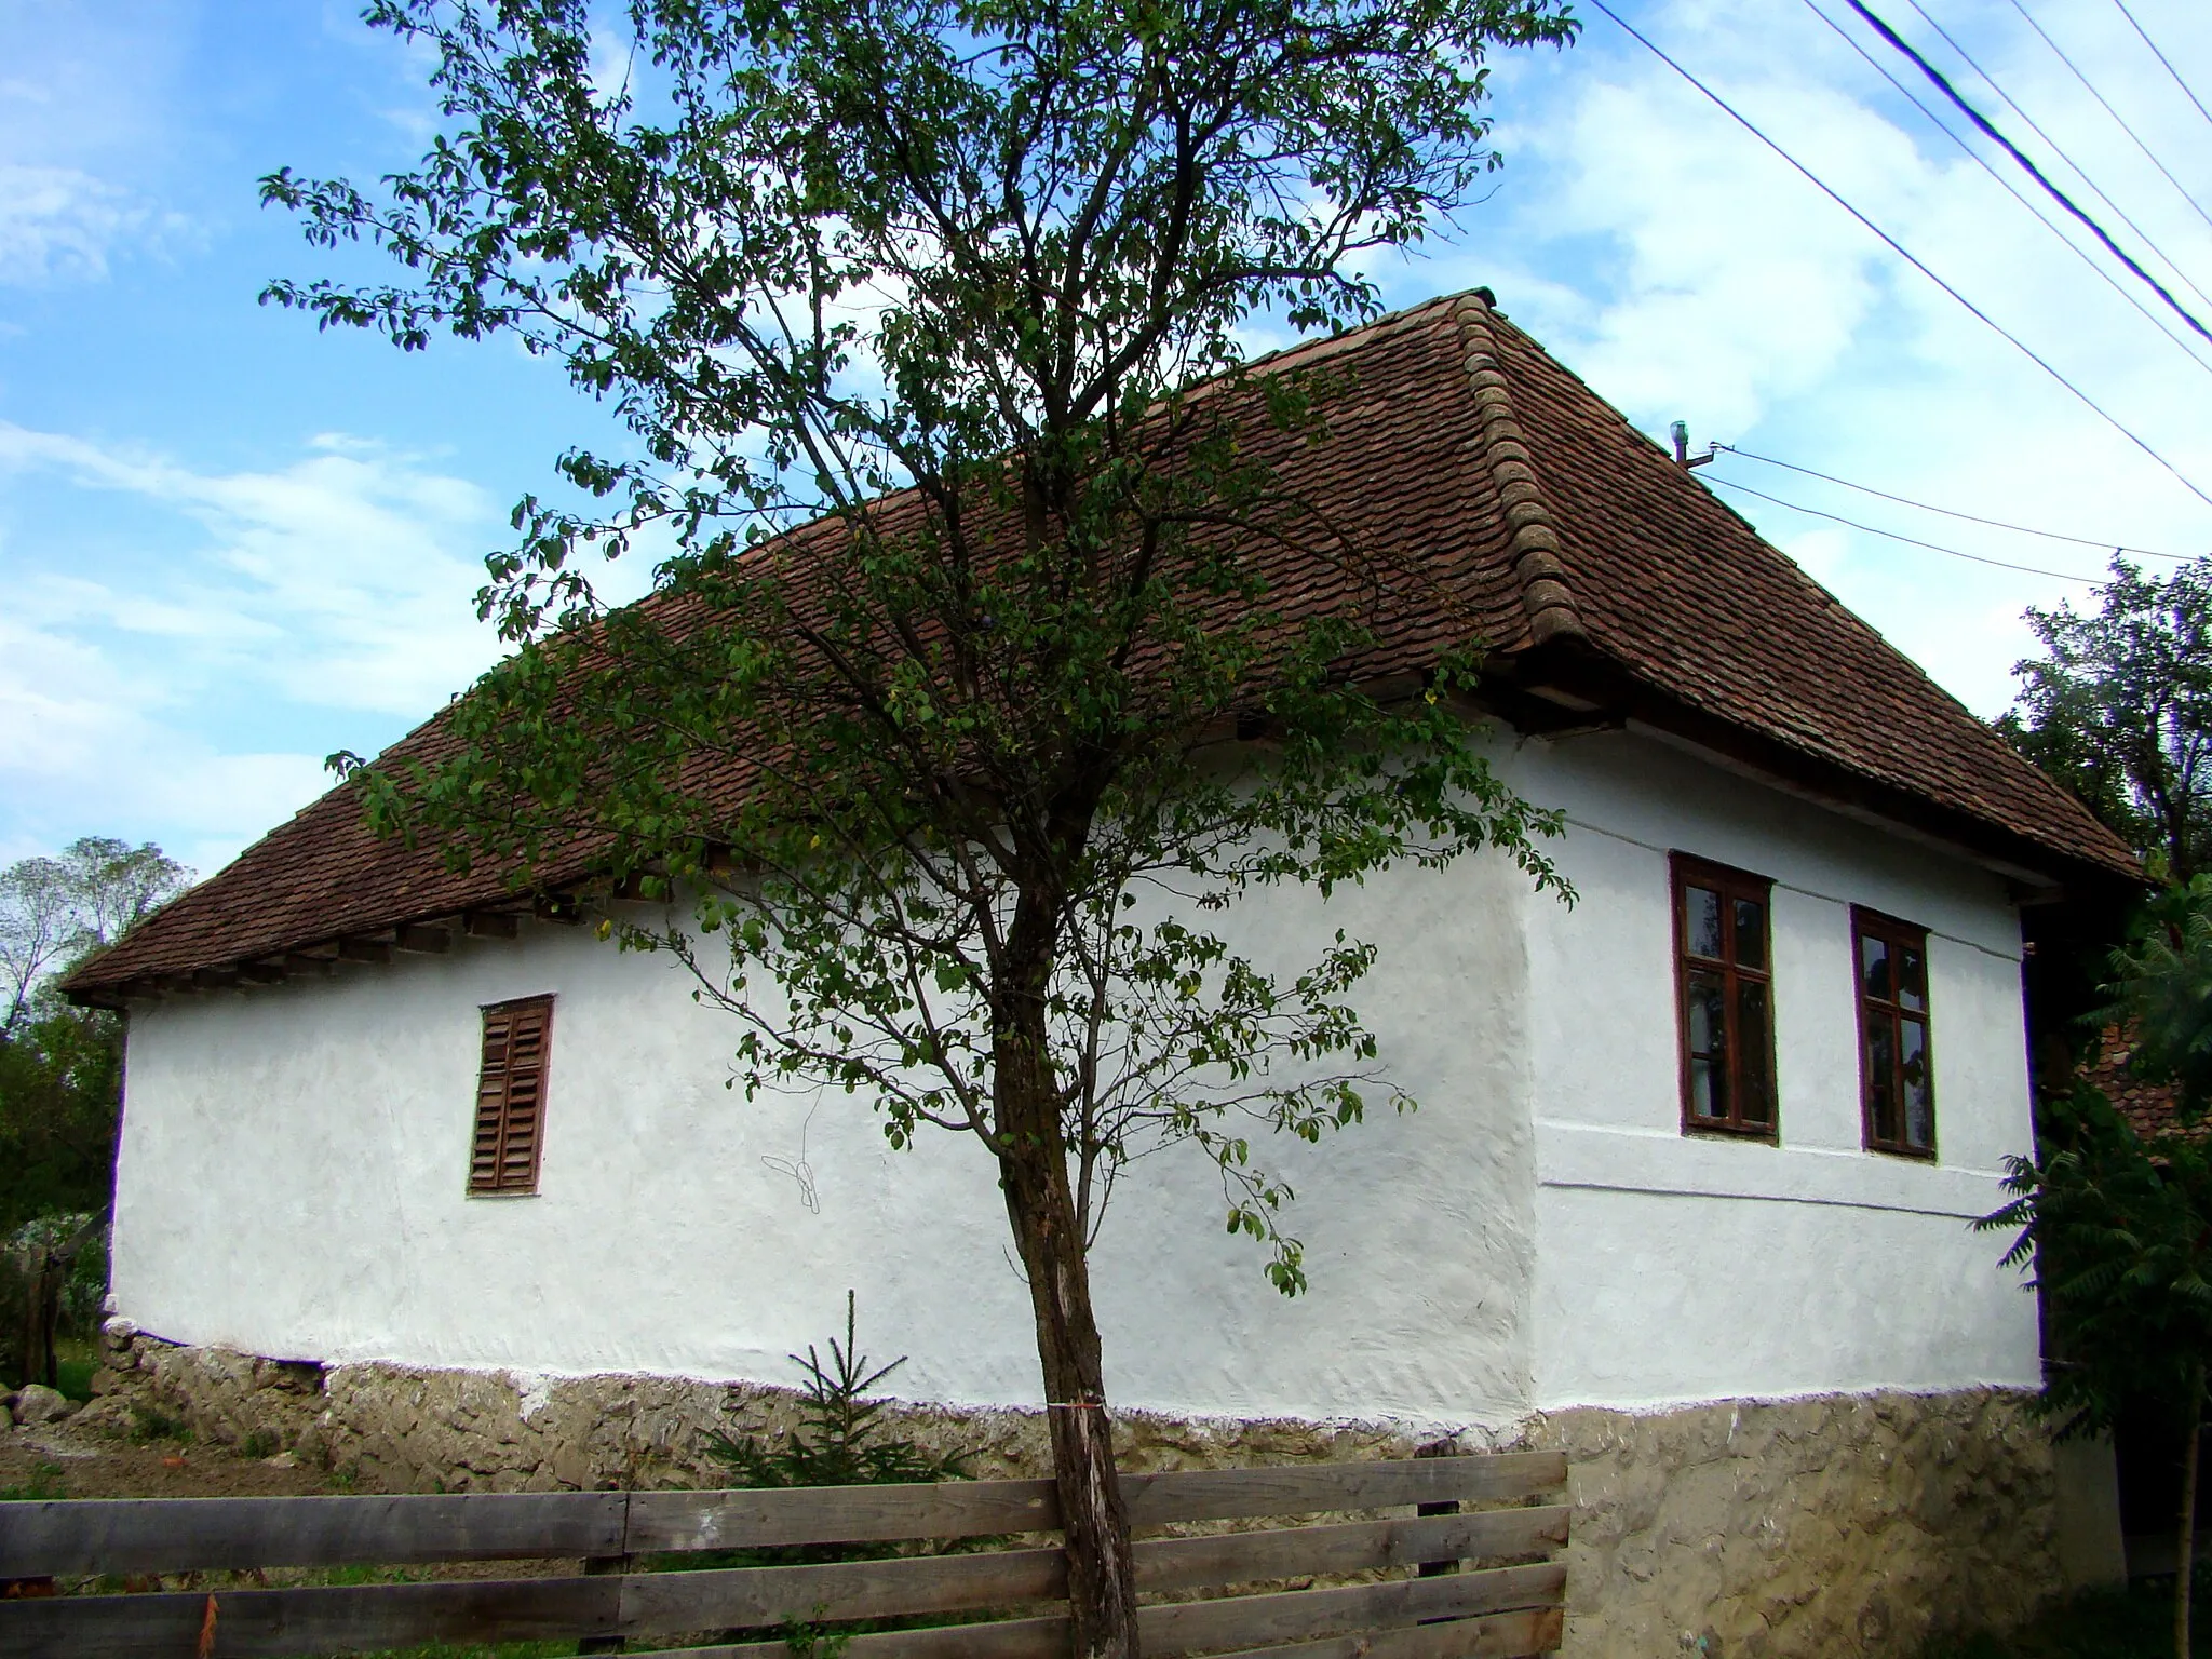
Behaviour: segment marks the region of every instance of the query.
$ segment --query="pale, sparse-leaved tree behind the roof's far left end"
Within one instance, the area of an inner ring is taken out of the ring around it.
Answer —
[[[38,982],[104,949],[192,883],[150,841],[133,847],[80,836],[60,858],[20,858],[0,872],[0,1035],[31,1011]]]

